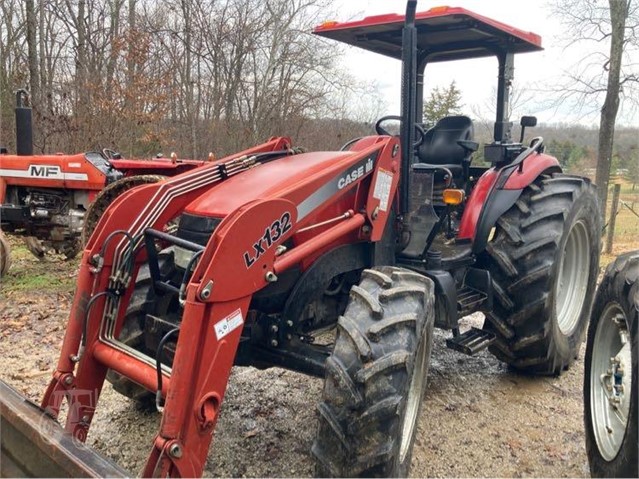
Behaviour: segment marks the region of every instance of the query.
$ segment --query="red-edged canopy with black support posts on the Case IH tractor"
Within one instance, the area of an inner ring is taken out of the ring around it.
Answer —
[[[521,152],[520,144],[511,144],[512,123],[507,118],[515,54],[543,50],[539,35],[464,8],[435,7],[416,14],[416,6],[417,1],[410,0],[406,15],[378,15],[345,23],[326,22],[314,30],[322,37],[402,61],[400,137],[402,176],[407,181],[400,185],[400,210],[404,214],[409,211],[411,165],[416,162],[415,149],[409,145],[415,144],[414,125],[422,123],[426,66],[455,60],[497,58],[494,143],[487,146],[486,156],[495,163],[504,163]],[[524,117],[522,121],[524,128],[535,124],[536,120],[531,117]],[[473,145],[459,146],[469,147],[473,148]]]

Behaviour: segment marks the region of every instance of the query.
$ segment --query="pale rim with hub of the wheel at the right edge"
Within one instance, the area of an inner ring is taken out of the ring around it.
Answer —
[[[632,357],[628,322],[621,307],[608,304],[597,325],[590,365],[590,417],[599,453],[619,453],[628,425]]]

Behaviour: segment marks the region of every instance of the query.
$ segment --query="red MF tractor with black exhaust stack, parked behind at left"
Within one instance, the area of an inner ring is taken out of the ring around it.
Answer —
[[[0,225],[23,236],[36,257],[47,250],[74,258],[109,204],[124,191],[203,164],[156,158],[124,160],[112,150],[76,155],[33,155],[28,94],[16,94],[16,155],[0,148]],[[0,232],[0,277],[10,251]]]

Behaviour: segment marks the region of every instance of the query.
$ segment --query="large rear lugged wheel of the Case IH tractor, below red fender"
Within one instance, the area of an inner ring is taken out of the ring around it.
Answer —
[[[481,258],[495,301],[490,351],[515,369],[559,374],[577,358],[599,270],[601,214],[593,185],[563,174],[527,187],[497,222]]]

